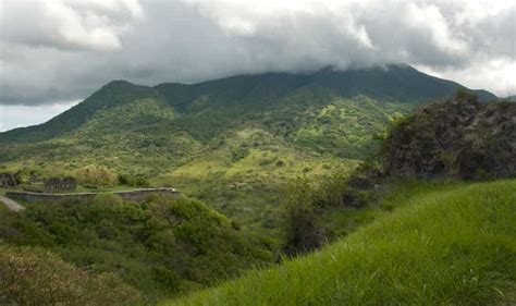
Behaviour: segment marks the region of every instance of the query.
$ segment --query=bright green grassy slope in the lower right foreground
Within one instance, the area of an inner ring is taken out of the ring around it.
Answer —
[[[164,304],[515,303],[516,181],[415,189],[385,199],[394,213],[321,252]]]

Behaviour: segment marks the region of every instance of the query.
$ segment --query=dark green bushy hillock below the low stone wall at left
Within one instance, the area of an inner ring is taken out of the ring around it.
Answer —
[[[75,270],[87,270],[96,281],[103,278],[102,273],[114,273],[137,289],[147,302],[213,284],[216,280],[237,276],[242,269],[271,261],[267,242],[235,230],[224,216],[199,200],[186,198],[152,197],[144,204],[135,204],[103,194],[94,203],[27,205],[21,213],[0,211],[0,238],[4,244],[45,248],[58,254],[79,268],[62,264],[69,267],[65,271],[71,276]],[[20,260],[33,260],[33,257],[26,257],[30,248],[5,249],[9,254],[20,253]],[[53,255],[45,258],[35,264],[34,273],[39,273],[36,272],[38,265],[50,273],[53,266],[47,265],[63,262]],[[28,261],[26,265],[32,265]],[[81,273],[76,276],[77,280]],[[40,282],[49,276],[41,273],[34,281]],[[62,281],[70,281],[73,286],[75,279],[70,279],[71,276],[63,272]],[[29,279],[30,273],[23,278]],[[106,281],[111,282],[110,279]],[[20,285],[24,280],[11,282]],[[85,283],[84,290],[87,285]],[[82,292],[81,287],[77,290]],[[36,294],[38,291],[27,287],[27,292]],[[10,298],[17,298],[20,294],[25,293],[8,293]],[[73,295],[71,298],[75,301]]]

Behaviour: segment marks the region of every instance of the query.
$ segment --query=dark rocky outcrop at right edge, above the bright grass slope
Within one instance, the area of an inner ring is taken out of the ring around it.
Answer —
[[[392,131],[382,155],[388,175],[516,176],[516,103],[428,105]]]

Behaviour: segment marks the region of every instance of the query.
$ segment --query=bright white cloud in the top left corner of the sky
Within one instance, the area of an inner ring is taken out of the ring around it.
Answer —
[[[2,4],[2,42],[65,50],[118,50],[121,35],[144,16],[136,0],[8,0]]]

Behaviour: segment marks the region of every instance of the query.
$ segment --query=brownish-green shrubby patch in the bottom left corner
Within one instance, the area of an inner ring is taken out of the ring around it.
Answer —
[[[111,273],[91,274],[34,247],[0,246],[0,304],[114,305],[139,293]]]

